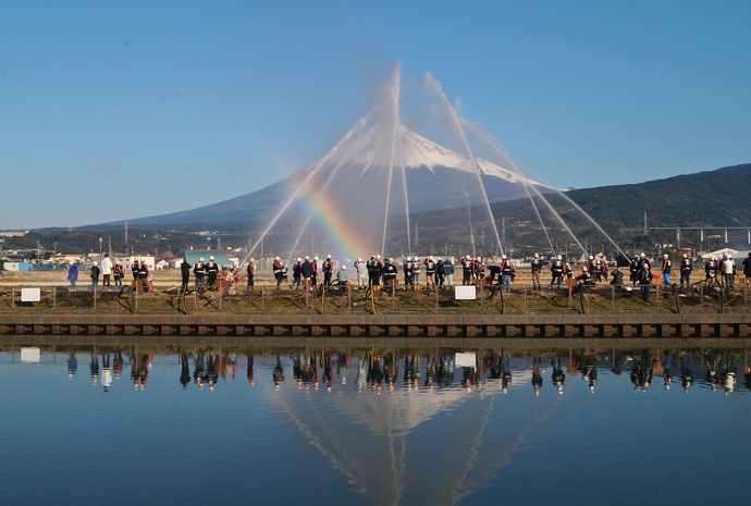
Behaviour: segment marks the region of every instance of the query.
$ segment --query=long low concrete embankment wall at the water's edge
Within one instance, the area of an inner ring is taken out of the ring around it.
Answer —
[[[751,314],[2,314],[0,335],[410,338],[750,337]]]

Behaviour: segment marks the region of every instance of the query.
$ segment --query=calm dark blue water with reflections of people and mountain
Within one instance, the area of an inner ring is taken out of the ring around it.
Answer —
[[[744,350],[41,348],[0,353],[3,504],[749,496]]]

